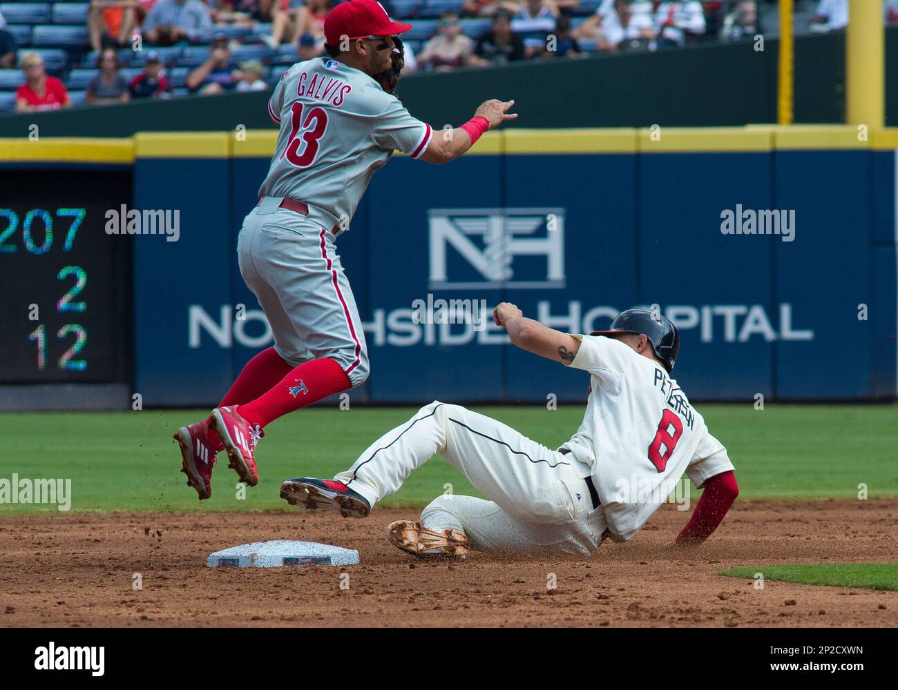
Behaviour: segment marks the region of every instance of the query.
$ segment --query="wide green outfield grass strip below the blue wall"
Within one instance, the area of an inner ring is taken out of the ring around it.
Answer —
[[[552,447],[577,430],[580,406],[472,406]],[[743,499],[856,498],[898,495],[896,406],[704,405],[709,428],[726,445]],[[236,475],[219,463],[210,501],[198,502],[180,474],[172,432],[207,411],[0,414],[0,478],[70,477],[73,510],[183,511],[288,508],[277,495],[293,476],[333,476],[383,432],[414,414],[410,407],[313,408],[277,420],[258,453],[261,481],[237,500]],[[388,504],[422,506],[444,492],[473,492],[443,459],[409,477]],[[476,492],[474,492],[476,493]],[[48,511],[0,504],[0,513]],[[55,510],[55,509],[54,509]]]

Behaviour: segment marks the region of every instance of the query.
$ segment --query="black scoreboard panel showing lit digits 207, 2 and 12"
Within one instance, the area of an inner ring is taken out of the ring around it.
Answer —
[[[126,381],[130,170],[0,170],[0,384]]]

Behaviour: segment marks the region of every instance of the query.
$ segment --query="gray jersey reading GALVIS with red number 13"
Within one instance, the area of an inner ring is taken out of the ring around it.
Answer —
[[[352,218],[393,150],[419,158],[433,132],[360,70],[330,57],[296,63],[269,100],[280,125],[260,197],[290,197]]]

